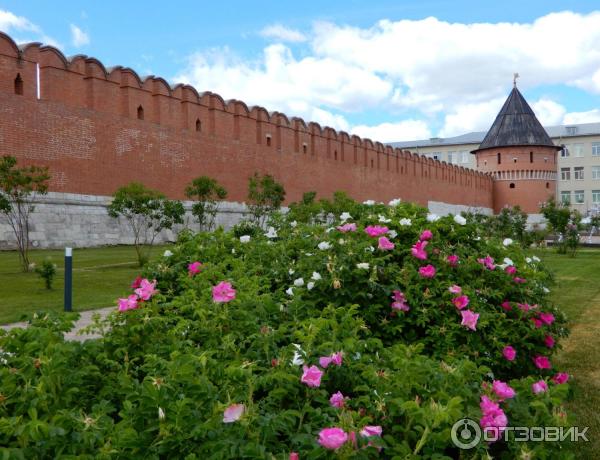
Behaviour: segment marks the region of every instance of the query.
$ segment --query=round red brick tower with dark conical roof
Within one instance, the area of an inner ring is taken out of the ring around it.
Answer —
[[[483,142],[471,153],[477,169],[494,178],[494,212],[519,205],[538,214],[556,193],[556,152],[550,136],[516,83]]]

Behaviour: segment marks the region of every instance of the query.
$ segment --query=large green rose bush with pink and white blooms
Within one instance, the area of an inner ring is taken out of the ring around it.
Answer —
[[[266,232],[183,233],[102,339],[65,342],[52,316],[5,333],[3,454],[563,455],[504,440],[461,452],[450,436],[464,417],[498,433],[567,423],[552,365],[567,331],[539,260],[409,204],[306,206]]]

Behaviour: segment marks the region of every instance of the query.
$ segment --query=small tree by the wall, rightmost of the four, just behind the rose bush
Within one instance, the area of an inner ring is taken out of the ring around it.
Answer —
[[[273,176],[254,173],[248,180],[248,207],[254,223],[259,227],[265,224],[273,211],[279,209],[284,199],[285,189]]]

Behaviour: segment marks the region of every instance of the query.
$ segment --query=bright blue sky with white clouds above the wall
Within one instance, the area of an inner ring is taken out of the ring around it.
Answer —
[[[381,142],[487,130],[513,84],[600,121],[600,2],[0,0],[0,31]]]

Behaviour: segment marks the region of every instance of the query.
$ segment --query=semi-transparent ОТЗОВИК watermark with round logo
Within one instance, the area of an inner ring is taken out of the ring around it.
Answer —
[[[475,420],[463,418],[452,426],[450,435],[454,445],[460,449],[472,449],[481,440],[494,442],[499,439],[514,442],[587,442],[589,427],[564,426],[507,426],[481,429]]]

